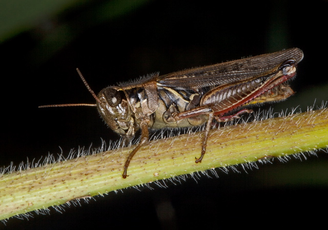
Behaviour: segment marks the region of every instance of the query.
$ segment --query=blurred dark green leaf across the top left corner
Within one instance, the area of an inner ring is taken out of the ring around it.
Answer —
[[[0,43],[30,30],[66,9],[91,3],[89,0],[2,0],[0,1]],[[124,15],[149,0],[102,1],[91,9],[94,23]],[[61,31],[61,29],[59,29]]]

